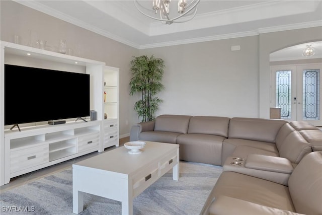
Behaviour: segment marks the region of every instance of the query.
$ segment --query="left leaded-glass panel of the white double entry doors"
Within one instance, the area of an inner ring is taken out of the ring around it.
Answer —
[[[276,106],[281,108],[281,118],[291,118],[291,70],[276,71]]]

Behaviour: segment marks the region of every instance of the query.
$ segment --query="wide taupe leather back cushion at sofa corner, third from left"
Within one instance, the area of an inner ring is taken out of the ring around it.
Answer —
[[[229,121],[228,137],[275,142],[277,132],[285,123],[281,119],[235,117]]]

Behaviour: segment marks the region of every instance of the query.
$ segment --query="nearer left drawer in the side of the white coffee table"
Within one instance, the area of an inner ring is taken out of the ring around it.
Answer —
[[[136,197],[148,186],[153,184],[159,177],[158,163],[154,163],[144,168],[141,172],[133,176],[133,197]]]

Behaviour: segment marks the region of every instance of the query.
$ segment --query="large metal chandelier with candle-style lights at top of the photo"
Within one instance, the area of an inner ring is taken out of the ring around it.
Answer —
[[[151,0],[151,8],[143,7],[139,0],[133,0],[136,9],[146,17],[161,21],[162,24],[183,23],[192,20],[197,13],[200,0],[192,0],[187,4],[187,0],[178,0],[178,16],[170,16],[171,0]],[[145,2],[145,1],[144,1]],[[173,6],[172,6],[173,7]],[[146,12],[143,12],[146,11]],[[191,16],[189,16],[191,15]],[[182,19],[180,19],[182,18]],[[180,19],[180,20],[179,20]]]

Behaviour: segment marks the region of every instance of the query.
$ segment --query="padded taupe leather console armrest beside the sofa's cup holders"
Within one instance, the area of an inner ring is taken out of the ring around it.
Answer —
[[[292,163],[287,158],[251,154],[245,162],[246,168],[291,174]]]

